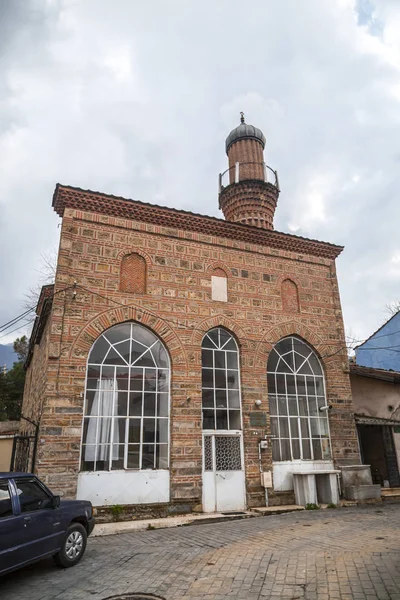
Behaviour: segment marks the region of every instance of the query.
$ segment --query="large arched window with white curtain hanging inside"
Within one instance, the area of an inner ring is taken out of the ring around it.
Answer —
[[[83,471],[167,469],[169,442],[167,351],[137,323],[115,325],[89,354]]]

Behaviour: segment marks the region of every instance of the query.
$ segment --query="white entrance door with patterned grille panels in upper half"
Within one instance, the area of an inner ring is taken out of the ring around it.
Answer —
[[[242,435],[203,437],[203,510],[229,512],[246,507]]]

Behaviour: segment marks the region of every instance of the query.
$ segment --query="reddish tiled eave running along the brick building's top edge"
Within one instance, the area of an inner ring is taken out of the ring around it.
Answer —
[[[216,217],[148,204],[138,200],[128,200],[111,194],[82,190],[59,183],[54,190],[52,205],[60,217],[68,207],[329,259],[335,259],[343,250],[343,246],[327,242],[279,231],[269,231],[243,223],[232,223]]]

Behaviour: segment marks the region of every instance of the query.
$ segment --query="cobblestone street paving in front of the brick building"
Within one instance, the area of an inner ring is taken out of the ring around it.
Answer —
[[[399,525],[393,504],[93,538],[75,568],[46,560],[3,577],[0,598],[395,600]]]

